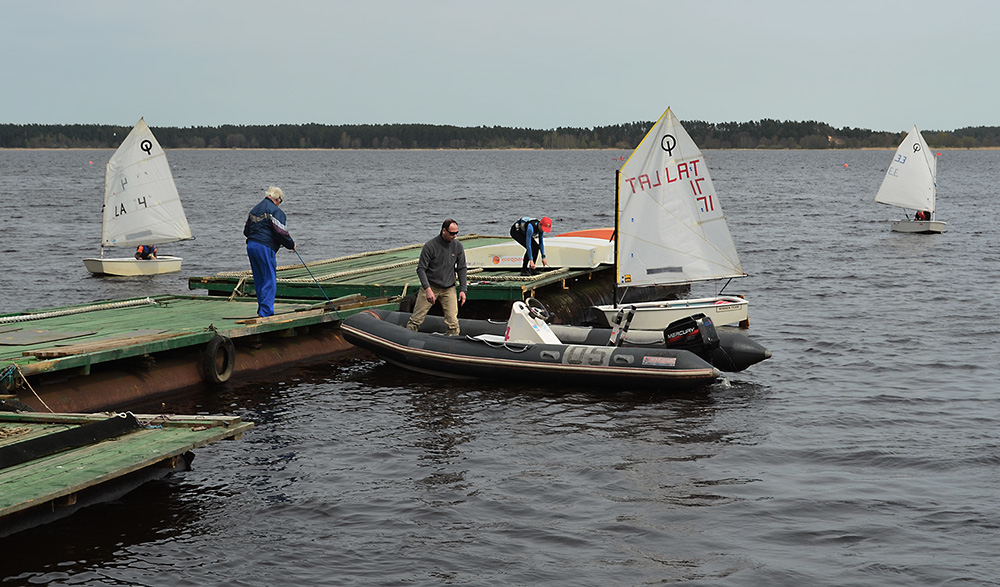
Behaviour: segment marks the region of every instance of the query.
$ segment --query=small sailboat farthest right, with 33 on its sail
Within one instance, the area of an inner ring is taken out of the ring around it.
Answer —
[[[934,219],[936,199],[937,158],[913,125],[896,149],[875,201],[916,211],[912,220],[909,217],[891,220],[894,232],[936,234],[944,232],[946,224]]]

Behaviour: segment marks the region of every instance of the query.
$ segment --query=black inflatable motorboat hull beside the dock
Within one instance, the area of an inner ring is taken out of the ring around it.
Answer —
[[[407,330],[410,314],[368,310],[346,318],[344,339],[401,367],[449,377],[532,377],[581,386],[661,390],[711,383],[719,371],[740,371],[771,356],[737,332],[720,330],[709,360],[690,350],[668,349],[659,332],[627,333],[608,346],[611,330],[551,325],[562,344],[504,342],[506,322],[460,319],[461,336],[444,336],[440,316],[428,316],[420,332]]]

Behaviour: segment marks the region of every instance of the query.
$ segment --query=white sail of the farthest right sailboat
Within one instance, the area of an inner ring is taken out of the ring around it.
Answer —
[[[933,212],[936,192],[937,159],[914,125],[896,149],[875,201]]]

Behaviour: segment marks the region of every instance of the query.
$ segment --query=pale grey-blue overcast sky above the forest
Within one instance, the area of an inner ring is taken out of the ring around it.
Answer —
[[[0,124],[1000,126],[994,0],[5,0]]]

